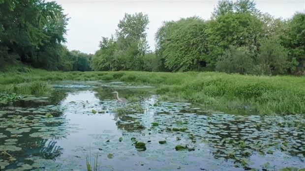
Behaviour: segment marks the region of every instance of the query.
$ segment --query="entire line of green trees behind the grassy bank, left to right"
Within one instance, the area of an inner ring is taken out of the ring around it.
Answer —
[[[222,0],[209,20],[192,16],[163,21],[155,33],[154,52],[147,41],[148,15],[125,13],[115,32],[101,38],[94,55],[62,45],[68,20],[56,2],[0,1],[0,62],[18,59],[63,71],[304,71],[304,11],[284,20],[260,12],[253,0]]]

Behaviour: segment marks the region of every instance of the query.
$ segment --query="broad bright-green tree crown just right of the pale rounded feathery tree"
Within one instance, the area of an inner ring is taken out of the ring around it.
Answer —
[[[212,61],[222,56],[230,45],[246,46],[256,54],[263,38],[263,23],[249,13],[233,13],[219,16],[208,24],[209,56]]]

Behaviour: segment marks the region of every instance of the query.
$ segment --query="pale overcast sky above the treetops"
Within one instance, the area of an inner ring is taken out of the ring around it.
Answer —
[[[110,37],[124,13],[148,14],[147,40],[154,50],[154,34],[162,21],[190,16],[209,19],[217,0],[56,0],[71,19],[68,23],[67,47],[94,54],[101,37]],[[255,0],[256,7],[275,17],[290,18],[305,10],[305,0]]]

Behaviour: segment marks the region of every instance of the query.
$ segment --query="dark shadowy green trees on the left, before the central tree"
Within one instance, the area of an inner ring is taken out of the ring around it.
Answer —
[[[19,60],[48,70],[91,70],[90,56],[69,52],[69,20],[54,1],[0,0],[0,69]]]

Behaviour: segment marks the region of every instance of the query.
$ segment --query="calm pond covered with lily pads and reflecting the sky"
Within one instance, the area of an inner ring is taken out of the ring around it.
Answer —
[[[0,106],[1,171],[86,171],[88,155],[100,171],[305,168],[304,114],[210,114],[121,82],[54,88],[50,98]]]

